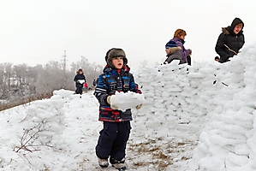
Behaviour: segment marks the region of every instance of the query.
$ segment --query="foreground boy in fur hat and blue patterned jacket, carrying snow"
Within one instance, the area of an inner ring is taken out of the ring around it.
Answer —
[[[99,102],[99,121],[104,122],[104,128],[100,132],[96,146],[98,164],[102,168],[109,165],[108,159],[113,167],[119,170],[126,169],[125,149],[130,133],[130,121],[132,121],[131,109],[122,112],[116,106],[110,105],[110,96],[116,91],[134,91],[141,93],[138,85],[134,83],[134,76],[130,74],[128,59],[122,49],[111,49],[105,58],[107,65],[104,74],[98,77],[98,85],[94,96]],[[142,104],[136,109],[140,109]]]

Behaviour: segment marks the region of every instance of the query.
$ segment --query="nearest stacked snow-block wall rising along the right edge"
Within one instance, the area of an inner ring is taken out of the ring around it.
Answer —
[[[221,68],[219,79],[229,87],[220,89],[215,99],[219,109],[200,135],[191,163],[194,168],[256,170],[255,47],[245,46],[240,56]]]

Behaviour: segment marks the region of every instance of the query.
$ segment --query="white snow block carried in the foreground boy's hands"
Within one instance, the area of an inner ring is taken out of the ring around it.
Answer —
[[[115,95],[110,97],[110,104],[115,105],[117,109],[125,111],[134,109],[144,102],[144,95],[128,91],[127,93],[116,91]]]

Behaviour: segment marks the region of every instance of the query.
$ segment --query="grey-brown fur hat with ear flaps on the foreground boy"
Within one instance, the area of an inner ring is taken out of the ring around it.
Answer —
[[[108,51],[109,53],[107,53],[108,58],[107,58],[107,64],[110,68],[115,68],[115,66],[112,63],[112,59],[115,57],[122,57],[123,60],[123,67],[125,67],[128,63],[128,59],[126,58],[125,52],[122,49],[119,48],[113,48],[111,50]]]

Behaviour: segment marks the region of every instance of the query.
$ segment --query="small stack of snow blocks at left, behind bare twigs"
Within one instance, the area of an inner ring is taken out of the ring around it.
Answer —
[[[51,142],[51,145],[55,146],[63,133],[66,125],[63,99],[67,97],[63,92],[54,91],[54,96],[50,99],[36,101],[27,108],[27,116],[23,120],[27,125],[25,129],[35,127],[32,133],[42,130],[38,133],[39,144]]]

